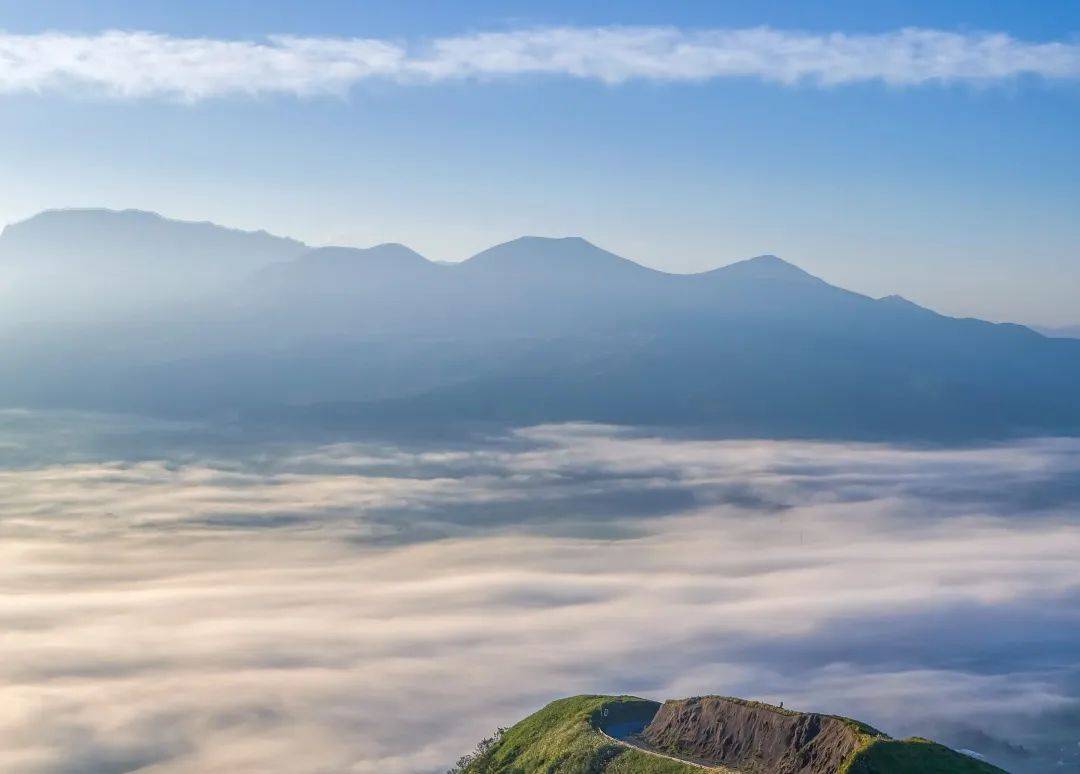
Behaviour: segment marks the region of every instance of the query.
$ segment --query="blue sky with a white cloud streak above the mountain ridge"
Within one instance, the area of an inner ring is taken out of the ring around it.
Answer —
[[[658,27],[660,54],[624,56]],[[760,27],[764,42],[730,35]],[[550,32],[565,28],[569,43]],[[896,64],[904,28],[951,36],[917,41],[935,56],[962,49],[943,77]],[[581,234],[671,271],[775,253],[948,313],[1080,323],[1077,2],[0,0],[0,30],[32,52],[0,66],[0,222],[134,206],[441,259]],[[548,69],[508,68],[538,30]],[[293,50],[279,67],[279,35],[315,41],[300,70]],[[192,39],[254,47],[204,41],[191,74],[168,51]],[[375,41],[368,69],[330,78],[337,39]],[[761,59],[732,73],[686,44]],[[772,63],[806,44],[785,79]],[[97,69],[67,62],[72,45]],[[838,51],[848,64],[819,67]]]

